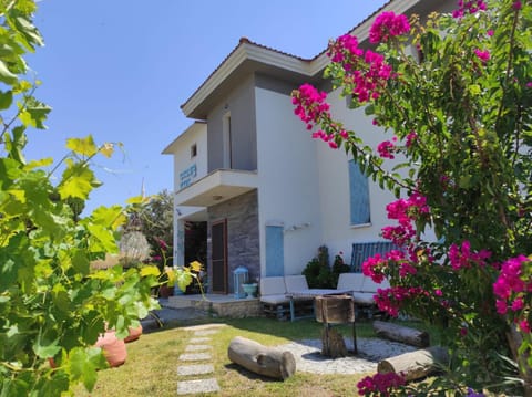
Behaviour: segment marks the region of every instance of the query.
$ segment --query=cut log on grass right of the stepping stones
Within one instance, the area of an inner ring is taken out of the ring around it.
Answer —
[[[229,359],[244,368],[276,379],[286,379],[296,373],[296,359],[290,352],[264,346],[236,336],[227,351]]]

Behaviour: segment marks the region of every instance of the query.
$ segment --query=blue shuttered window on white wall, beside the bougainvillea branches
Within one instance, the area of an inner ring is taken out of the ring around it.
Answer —
[[[349,161],[351,226],[370,223],[368,178],[355,160]]]

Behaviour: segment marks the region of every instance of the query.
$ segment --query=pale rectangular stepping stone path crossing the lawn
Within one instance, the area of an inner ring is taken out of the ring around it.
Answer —
[[[208,344],[211,336],[215,335],[224,324],[206,324],[187,327],[192,331],[193,337],[188,341],[185,352],[180,356],[177,366],[177,395],[195,395],[202,393],[217,393],[219,385],[216,378],[208,376],[214,373],[212,363],[212,346]],[[194,379],[187,379],[194,377]]]

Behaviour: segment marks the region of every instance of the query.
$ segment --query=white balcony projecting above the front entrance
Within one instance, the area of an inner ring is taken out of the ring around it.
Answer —
[[[217,169],[176,192],[176,206],[212,207],[258,187],[256,171]]]

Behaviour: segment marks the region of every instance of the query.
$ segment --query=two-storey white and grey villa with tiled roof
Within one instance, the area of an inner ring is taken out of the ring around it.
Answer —
[[[456,1],[392,0],[351,33],[368,45],[382,11],[450,11]],[[338,32],[342,34],[344,32]],[[382,130],[352,111],[323,79],[325,51],[300,59],[241,39],[186,100],[193,123],[163,154],[174,158],[174,258],[184,263],[186,222],[206,222],[208,292],[234,292],[233,271],[250,280],[300,274],[320,245],[347,262],[354,244],[380,241],[391,194],[364,177],[345,154],[313,139],[294,115],[290,92],[308,82],[329,92],[334,117],[376,147]]]

